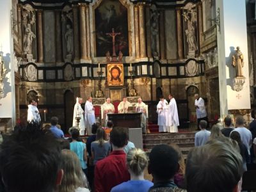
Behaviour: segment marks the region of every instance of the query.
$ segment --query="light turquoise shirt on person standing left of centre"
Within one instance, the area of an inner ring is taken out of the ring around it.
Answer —
[[[72,141],[70,143],[70,150],[77,154],[83,170],[87,168],[86,161],[84,161],[84,149],[86,149],[86,145],[81,141]]]

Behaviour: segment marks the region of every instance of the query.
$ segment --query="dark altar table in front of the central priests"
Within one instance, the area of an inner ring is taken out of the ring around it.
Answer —
[[[141,113],[113,113],[108,114],[108,119],[113,122],[115,127],[141,127]]]

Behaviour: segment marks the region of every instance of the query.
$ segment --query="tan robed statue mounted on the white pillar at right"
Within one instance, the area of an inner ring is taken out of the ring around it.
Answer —
[[[243,77],[244,56],[239,47],[236,47],[236,52],[232,56],[232,65],[236,68],[236,77]]]

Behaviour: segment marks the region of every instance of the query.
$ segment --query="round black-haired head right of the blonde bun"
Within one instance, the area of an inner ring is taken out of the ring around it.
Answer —
[[[179,171],[179,157],[174,148],[161,144],[152,148],[149,154],[148,173],[154,181],[168,181],[173,179]]]

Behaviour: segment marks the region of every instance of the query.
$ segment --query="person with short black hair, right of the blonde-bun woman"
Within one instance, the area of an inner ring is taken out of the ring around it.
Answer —
[[[179,157],[173,147],[161,144],[152,148],[149,154],[148,173],[152,174],[154,186],[149,191],[181,192],[174,183],[174,175],[179,172]]]

